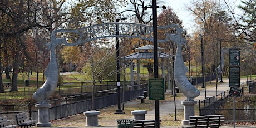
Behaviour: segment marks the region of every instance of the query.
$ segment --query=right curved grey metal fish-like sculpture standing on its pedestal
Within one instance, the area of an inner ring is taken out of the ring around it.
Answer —
[[[174,61],[174,81],[180,92],[186,96],[186,100],[194,101],[194,98],[200,95],[200,91],[196,87],[194,87],[194,85],[192,85],[186,77],[188,67],[186,67],[186,65],[184,64],[181,53],[181,46],[185,45],[185,42],[187,41],[182,37],[182,28],[178,28],[177,34],[169,35],[169,38],[177,45]]]

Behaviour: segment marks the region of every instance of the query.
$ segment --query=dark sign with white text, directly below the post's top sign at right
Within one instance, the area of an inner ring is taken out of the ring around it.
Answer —
[[[240,87],[240,67],[229,67],[229,87]]]

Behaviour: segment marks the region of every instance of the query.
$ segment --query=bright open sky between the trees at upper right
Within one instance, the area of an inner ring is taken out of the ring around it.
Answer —
[[[164,5],[166,7],[170,6],[173,8],[174,12],[178,15],[181,21],[183,21],[184,29],[188,33],[193,33],[195,31],[195,17],[192,16],[189,8],[191,6],[191,2],[196,0],[165,0]],[[224,0],[223,0],[224,1]],[[227,3],[236,5],[241,4],[240,0],[225,0]],[[161,6],[161,5],[158,5]]]

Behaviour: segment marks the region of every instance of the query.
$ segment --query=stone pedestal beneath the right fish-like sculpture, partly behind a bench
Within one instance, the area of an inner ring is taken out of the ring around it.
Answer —
[[[188,125],[189,116],[195,116],[196,101],[181,101],[181,104],[184,105],[184,120],[181,121],[181,124]]]

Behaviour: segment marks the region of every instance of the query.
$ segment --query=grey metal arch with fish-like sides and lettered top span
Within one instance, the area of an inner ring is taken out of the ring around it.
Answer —
[[[165,33],[163,40],[158,40],[158,43],[163,43],[166,41],[173,41],[173,42],[180,42],[178,43],[181,45],[181,43],[187,42],[183,37],[183,28],[180,28],[177,24],[172,24],[169,26],[162,26],[157,27],[158,30],[164,30],[164,29],[171,29],[171,32],[173,33]],[[118,34],[117,34],[118,33]],[[60,38],[57,38],[58,35]],[[73,42],[67,42],[68,37],[70,36],[79,36],[76,41]],[[109,38],[109,37],[129,37],[129,38],[141,38],[143,40],[149,40],[153,41],[153,26],[147,26],[144,24],[136,24],[136,23],[103,23],[103,24],[96,24],[89,27],[84,27],[80,29],[73,29],[73,30],[67,30],[67,29],[55,29],[55,31],[52,32],[51,35],[51,43],[48,43],[51,50],[51,57],[50,57],[50,63],[48,63],[48,66],[45,71],[46,75],[46,81],[43,83],[42,87],[39,88],[34,94],[33,99],[37,100],[38,102],[41,102],[41,104],[45,103],[45,101],[50,97],[50,95],[53,93],[53,91],[57,87],[57,81],[58,81],[58,67],[55,57],[55,48],[57,45],[66,45],[66,46],[75,46],[79,45],[81,43],[85,43],[92,40],[98,40],[101,38]],[[177,53],[176,53],[177,54]],[[179,53],[181,54],[181,52]],[[176,60],[176,59],[175,59]],[[180,63],[184,62],[181,60],[176,65],[181,65]],[[174,66],[175,67],[175,66]],[[184,67],[181,67],[184,68]],[[177,69],[179,70],[179,69]],[[185,71],[185,70],[183,70]],[[180,75],[180,74],[179,74]],[[185,73],[182,73],[184,76]],[[177,76],[177,80],[179,81],[188,81],[188,79],[184,79],[186,77],[180,77]],[[176,81],[176,79],[175,79]],[[186,84],[189,82],[185,82]],[[193,85],[183,85],[184,82],[181,82],[180,84],[177,83],[178,88],[181,90],[181,92],[184,92],[184,95],[188,97],[188,99],[193,99],[190,95],[186,95],[188,93],[188,89],[185,87],[193,86]],[[185,86],[185,87],[184,87]],[[191,88],[190,88],[191,89]],[[196,93],[198,96],[199,94]]]

